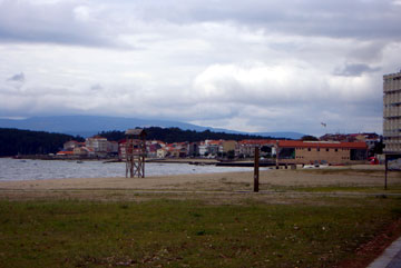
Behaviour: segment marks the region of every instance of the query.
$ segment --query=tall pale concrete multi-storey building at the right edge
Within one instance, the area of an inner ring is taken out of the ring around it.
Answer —
[[[401,71],[383,76],[385,153],[401,153]]]

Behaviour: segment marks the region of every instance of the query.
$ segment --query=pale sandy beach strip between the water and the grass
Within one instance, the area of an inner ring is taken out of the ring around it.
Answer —
[[[389,172],[387,193],[401,193],[401,173]],[[261,195],[293,197],[317,193],[382,193],[382,166],[333,167],[324,169],[272,169],[261,171]],[[136,195],[217,196],[223,200],[253,193],[253,172],[158,176],[147,178],[79,178],[52,180],[0,181],[3,197],[72,196],[84,199],[134,198]],[[286,193],[286,195],[283,195]],[[254,197],[255,195],[251,195]],[[261,199],[261,197],[257,197]],[[136,198],[134,198],[136,199]]]

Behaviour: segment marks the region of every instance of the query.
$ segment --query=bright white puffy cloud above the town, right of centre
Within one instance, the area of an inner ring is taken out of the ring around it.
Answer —
[[[285,101],[354,101],[370,98],[369,77],[338,77],[303,62],[293,64],[215,64],[195,79],[197,97],[207,101],[283,105]],[[368,91],[369,92],[369,91]]]

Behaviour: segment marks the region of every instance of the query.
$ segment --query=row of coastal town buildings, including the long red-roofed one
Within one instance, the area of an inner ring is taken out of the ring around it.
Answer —
[[[261,159],[278,160],[280,163],[295,165],[348,165],[378,161],[374,149],[381,142],[376,133],[325,135],[319,140],[204,140],[200,142],[146,141],[148,159],[224,159],[241,160],[254,157],[255,148]],[[58,159],[115,158],[126,159],[126,139],[109,141],[94,136],[84,142],[67,141],[56,153]]]

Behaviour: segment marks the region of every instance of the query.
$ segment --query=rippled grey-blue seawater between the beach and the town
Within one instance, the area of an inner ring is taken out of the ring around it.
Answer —
[[[72,160],[0,158],[0,180],[125,177],[125,162],[104,163],[102,161],[77,162]],[[253,168],[194,166],[188,163],[147,162],[145,165],[146,177],[252,170]]]

